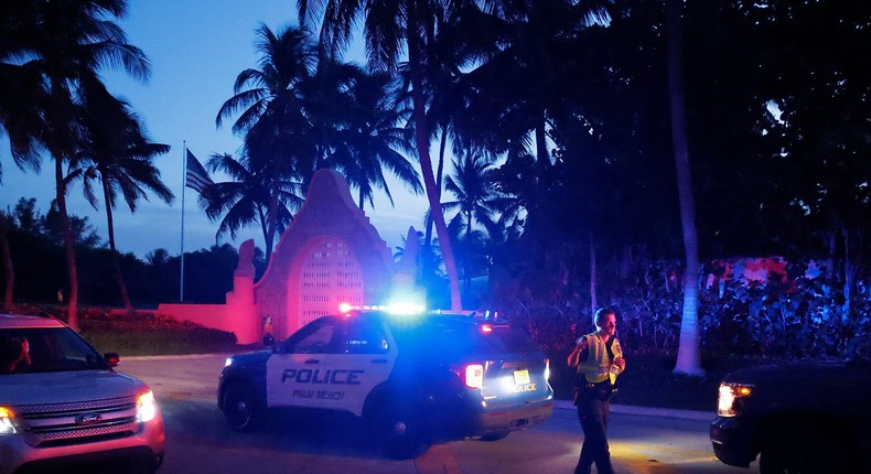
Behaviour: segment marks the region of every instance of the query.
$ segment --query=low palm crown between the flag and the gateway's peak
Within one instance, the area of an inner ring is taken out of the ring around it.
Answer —
[[[221,170],[233,180],[209,184],[200,194],[200,205],[209,219],[224,216],[215,238],[228,233],[235,239],[239,229],[257,223],[264,234],[266,256],[271,256],[270,229],[277,229],[280,235],[293,219],[293,213],[302,206],[303,183],[276,177],[275,173],[251,168],[249,159],[236,160],[227,153],[213,154],[206,166],[213,172]],[[272,196],[273,192],[278,194]],[[273,213],[275,227],[271,227],[269,213],[273,202],[278,205]]]

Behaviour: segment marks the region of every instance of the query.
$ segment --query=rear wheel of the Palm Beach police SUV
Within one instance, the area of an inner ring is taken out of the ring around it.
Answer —
[[[384,453],[395,460],[408,460],[430,446],[430,433],[423,416],[407,401],[390,400],[373,412],[370,425],[381,442]]]

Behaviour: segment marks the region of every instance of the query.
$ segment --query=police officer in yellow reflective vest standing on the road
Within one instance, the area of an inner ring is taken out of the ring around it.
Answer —
[[[626,362],[620,342],[614,337],[616,314],[610,308],[595,312],[596,331],[585,334],[569,354],[569,367],[577,367],[574,406],[583,429],[583,446],[576,474],[589,474],[595,463],[600,474],[612,474],[607,448],[607,413],[614,381]]]

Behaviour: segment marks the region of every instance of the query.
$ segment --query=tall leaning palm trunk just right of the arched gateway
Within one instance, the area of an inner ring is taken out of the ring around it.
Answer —
[[[410,2],[413,4],[413,2]],[[444,223],[444,214],[441,211],[439,188],[436,185],[436,177],[432,174],[432,161],[429,152],[429,133],[427,130],[426,100],[423,97],[423,80],[421,77],[421,57],[419,39],[417,37],[418,21],[417,13],[409,14],[407,31],[408,34],[408,57],[409,73],[411,75],[411,99],[413,103],[412,114],[415,115],[415,142],[420,160],[420,171],[423,173],[423,187],[427,190],[427,200],[430,205],[430,216],[436,224],[436,235],[439,236],[444,269],[448,271],[448,282],[451,289],[451,311],[461,311],[462,301],[460,298],[460,281],[456,273],[456,262],[453,256],[451,237],[448,235],[448,225]]]

